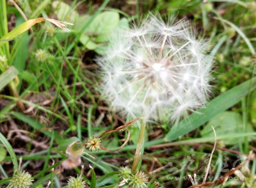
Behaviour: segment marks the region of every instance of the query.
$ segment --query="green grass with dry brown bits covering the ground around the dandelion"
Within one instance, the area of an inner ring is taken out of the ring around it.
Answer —
[[[4,41],[0,47],[0,56],[8,59],[1,61],[0,58],[0,148],[7,153],[0,161],[0,186],[8,185],[19,168],[33,175],[35,182],[32,187],[47,187],[49,181],[52,182],[50,187],[67,186],[70,176],[81,175],[81,166],[68,170],[61,167],[61,162],[68,157],[65,153],[68,146],[74,141],[84,142],[88,137],[99,136],[129,121],[112,111],[100,97],[100,75],[95,58],[100,56],[100,47],[106,45],[108,39],[102,42],[99,38],[108,38],[107,35],[114,33],[116,28],[113,31],[109,29],[110,34],[96,33],[95,36],[89,31],[99,24],[97,17],[100,13],[106,11],[118,13],[120,19],[129,23],[132,20],[138,22],[148,12],[160,14],[163,19],[188,17],[198,35],[211,43],[209,54],[216,59],[212,73],[214,92],[205,108],[199,109],[199,113],[189,114],[177,125],[151,122],[147,127],[141,170],[149,176],[148,186],[154,187],[156,181],[160,187],[189,187],[188,175],[193,176],[194,173],[200,184],[212,150],[204,144],[213,145],[214,141],[214,137],[203,137],[202,129],[207,121],[223,111],[239,114],[243,132],[237,130],[217,135],[217,145],[222,149],[216,148],[214,152],[212,173],[207,182],[217,180],[244,161],[245,155],[236,152],[248,155],[255,146],[256,137],[253,124],[256,118],[253,109],[256,101],[256,4],[253,1],[151,0],[125,1],[122,5],[112,0],[65,2],[70,6],[67,9],[61,6],[62,10],[51,6],[51,0],[22,1],[18,5],[28,19],[56,18],[61,11],[65,12],[63,17],[56,19],[74,22],[74,27],[68,26],[70,33],[57,27],[51,33],[51,24],[42,22],[32,27],[33,32],[26,31],[15,40]],[[77,12],[90,17],[79,20]],[[14,6],[0,0],[0,38],[8,33],[8,22],[10,26],[10,17],[13,16],[15,27],[25,22]],[[108,24],[116,23],[109,19]],[[87,38],[82,43],[83,36]],[[97,47],[93,48],[93,45]],[[38,57],[40,49],[46,55],[43,59]],[[81,159],[86,184],[90,187],[114,187],[122,181],[120,168],[132,166],[137,125],[134,123],[126,127],[131,130],[131,138],[118,152],[84,150]],[[114,150],[126,137],[127,132],[114,132],[102,139],[102,145]],[[227,145],[225,141],[230,137],[237,138],[237,143]],[[244,168],[248,168],[248,173],[241,169],[246,181],[234,187],[241,187],[241,184],[253,187],[256,184],[252,178],[255,160]],[[237,176],[231,177],[225,187],[231,186]]]

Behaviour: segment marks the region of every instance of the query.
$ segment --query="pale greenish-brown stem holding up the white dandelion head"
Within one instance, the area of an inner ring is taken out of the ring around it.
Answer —
[[[140,127],[140,136],[138,139],[138,144],[137,144],[137,148],[136,148],[136,152],[135,152],[135,157],[134,157],[134,161],[132,164],[132,173],[135,174],[138,168],[138,163],[141,159],[141,157],[143,156],[143,153],[141,153],[141,149],[143,147],[144,144],[144,132],[145,132],[145,128],[146,128],[146,122],[144,120],[141,121],[141,127]]]

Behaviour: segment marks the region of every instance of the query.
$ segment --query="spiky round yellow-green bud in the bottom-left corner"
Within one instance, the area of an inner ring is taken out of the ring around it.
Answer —
[[[33,182],[32,176],[26,171],[17,171],[10,180],[10,188],[29,188]]]

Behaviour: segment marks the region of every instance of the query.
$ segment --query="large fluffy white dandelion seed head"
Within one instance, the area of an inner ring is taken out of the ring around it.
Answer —
[[[116,31],[106,56],[97,59],[103,95],[133,118],[179,120],[202,107],[211,92],[213,61],[206,48],[186,20],[171,25],[152,17]]]

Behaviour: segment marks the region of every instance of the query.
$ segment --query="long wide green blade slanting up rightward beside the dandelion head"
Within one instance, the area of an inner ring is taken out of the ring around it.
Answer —
[[[168,132],[166,137],[164,137],[164,141],[173,141],[191,130],[196,129],[200,125],[203,125],[212,117],[216,116],[216,114],[234,106],[241,100],[241,98],[248,95],[248,93],[255,88],[256,77],[222,93],[220,96],[211,100],[205,107],[198,110],[198,112],[193,113],[185,120],[180,121],[178,125]]]

